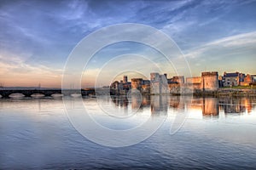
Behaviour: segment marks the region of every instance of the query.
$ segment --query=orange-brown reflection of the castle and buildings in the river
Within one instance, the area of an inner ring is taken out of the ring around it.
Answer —
[[[131,96],[131,101],[126,96],[112,98],[116,106],[128,107],[143,111],[144,107],[151,108],[151,115],[167,114],[170,109],[172,111],[200,111],[204,117],[214,116],[218,117],[219,112],[224,114],[244,114],[253,111],[253,105],[256,98],[246,97],[186,97],[186,96],[170,96],[170,95],[145,95],[142,97]]]

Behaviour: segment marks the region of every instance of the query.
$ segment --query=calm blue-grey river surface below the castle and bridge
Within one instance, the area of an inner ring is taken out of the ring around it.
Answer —
[[[70,101],[75,108],[76,98]],[[102,114],[95,98],[83,101],[97,122],[109,128],[128,129],[148,117],[166,116],[166,122],[139,144],[111,148],[78,133],[61,98],[0,99],[0,169],[256,167],[256,98],[151,96],[142,105],[124,97],[105,99],[106,110],[124,116],[137,111],[119,121]],[[182,111],[189,116],[171,135],[172,121]]]

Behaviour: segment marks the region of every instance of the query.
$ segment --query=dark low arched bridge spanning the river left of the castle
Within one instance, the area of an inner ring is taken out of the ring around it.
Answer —
[[[94,89],[66,89],[64,93],[62,93],[61,89],[1,89],[0,95],[3,98],[9,98],[10,94],[23,94],[25,97],[31,97],[32,94],[44,94],[44,96],[51,96],[52,94],[64,94],[64,95],[72,95],[72,94],[81,94],[82,96],[95,94]]]

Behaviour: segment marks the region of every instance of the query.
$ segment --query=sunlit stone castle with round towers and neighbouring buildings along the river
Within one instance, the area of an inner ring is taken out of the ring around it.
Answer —
[[[226,73],[224,76],[218,76],[217,71],[201,72],[201,77],[187,77],[186,82],[183,76],[174,76],[167,78],[167,74],[160,75],[157,72],[150,73],[150,80],[143,78],[128,77],[120,82],[115,81],[110,85],[112,94],[127,94],[135,90],[142,94],[190,94],[190,93],[208,93],[216,92],[218,88],[227,86],[247,86],[256,82],[255,75],[242,73]]]

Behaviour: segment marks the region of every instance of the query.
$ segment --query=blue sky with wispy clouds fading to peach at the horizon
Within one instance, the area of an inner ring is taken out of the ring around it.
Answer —
[[[60,88],[67,59],[79,42],[124,23],[152,26],[172,38],[193,77],[201,71],[256,74],[256,1],[0,0],[0,83]],[[146,62],[166,68],[169,77],[177,73],[154,48],[118,42],[84,63],[82,87],[93,86],[96,75],[101,85],[142,70],[148,77],[154,69]],[[124,65],[132,71],[122,71]]]

